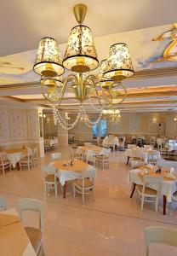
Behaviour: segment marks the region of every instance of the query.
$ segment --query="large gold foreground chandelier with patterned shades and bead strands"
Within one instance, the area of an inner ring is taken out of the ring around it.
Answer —
[[[41,76],[42,94],[53,109],[54,123],[58,122],[67,130],[73,128],[79,119],[84,119],[89,127],[96,125],[105,108],[124,101],[127,90],[122,80],[134,75],[128,45],[124,43],[111,45],[107,59],[99,64],[91,30],[83,26],[87,6],[79,3],[74,6],[73,12],[78,25],[71,29],[63,60],[56,40],[42,38],[33,67],[34,72]],[[97,67],[98,73],[90,73]],[[71,72],[67,76],[65,69]],[[63,118],[59,109],[68,91],[74,93],[80,102],[73,123]],[[84,104],[87,101],[99,113],[94,122],[88,118]]]

